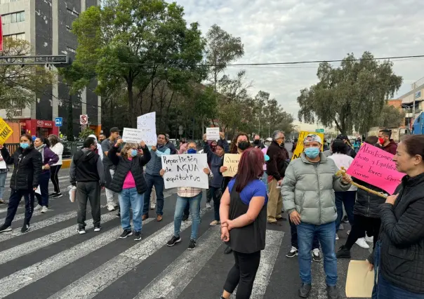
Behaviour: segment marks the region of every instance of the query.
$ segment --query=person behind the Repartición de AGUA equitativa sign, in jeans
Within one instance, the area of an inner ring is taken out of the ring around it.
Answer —
[[[189,142],[187,146],[187,154],[196,154],[197,145],[196,142]],[[206,175],[213,178],[211,170],[206,167],[203,169]],[[161,169],[160,175],[163,176],[166,170]],[[190,213],[192,214],[192,234],[190,236],[190,242],[188,249],[193,250],[196,248],[197,232],[200,225],[200,201],[203,195],[203,189],[197,187],[178,187],[177,204],[175,205],[175,213],[173,216],[173,236],[166,244],[167,246],[174,246],[181,241],[180,228],[181,222],[183,221],[183,213],[185,206],[190,204]]]

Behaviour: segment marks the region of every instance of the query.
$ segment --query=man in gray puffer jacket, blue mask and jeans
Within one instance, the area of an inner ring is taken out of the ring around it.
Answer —
[[[334,191],[346,191],[350,177],[337,176],[334,161],[320,152],[322,140],[318,135],[307,135],[304,152],[291,161],[286,169],[281,194],[284,210],[297,225],[299,244],[299,272],[302,285],[300,297],[307,298],[312,288],[311,248],[317,234],[324,253],[324,271],[328,298],[338,298],[337,259],[334,253],[337,210]]]

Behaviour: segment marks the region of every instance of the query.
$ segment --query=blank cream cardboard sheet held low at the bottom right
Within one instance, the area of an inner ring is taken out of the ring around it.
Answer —
[[[347,298],[371,298],[374,286],[374,272],[368,270],[366,260],[351,260],[346,278]]]

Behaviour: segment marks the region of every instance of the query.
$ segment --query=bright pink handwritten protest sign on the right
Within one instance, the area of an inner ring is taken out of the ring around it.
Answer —
[[[393,194],[405,174],[396,170],[392,158],[389,152],[364,143],[346,173]]]

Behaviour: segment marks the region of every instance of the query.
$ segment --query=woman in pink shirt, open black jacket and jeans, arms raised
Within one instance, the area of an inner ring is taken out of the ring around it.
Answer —
[[[147,190],[143,166],[150,161],[150,151],[145,142],[140,142],[143,155],[138,154],[139,145],[127,142],[118,156],[119,146],[124,141],[119,139],[107,154],[110,161],[117,166],[110,190],[119,194],[122,232],[120,239],[133,234],[130,224],[130,208],[133,210],[133,225],[135,241],[141,240],[141,214],[143,211],[144,193]]]

